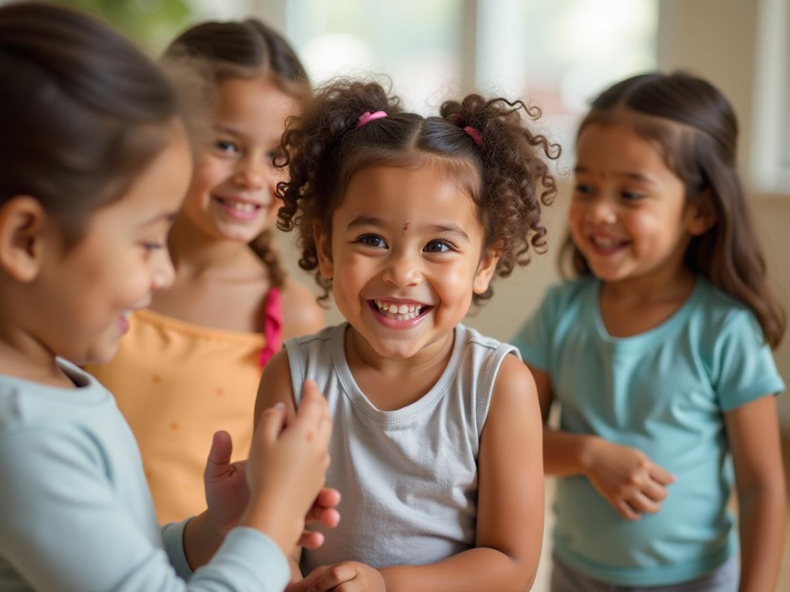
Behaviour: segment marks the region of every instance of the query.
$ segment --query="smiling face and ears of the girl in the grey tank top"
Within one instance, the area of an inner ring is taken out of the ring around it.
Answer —
[[[317,232],[320,268],[376,354],[411,358],[441,348],[472,292],[487,290],[497,258],[483,256],[483,234],[475,204],[445,171],[369,167],[333,213],[331,245]]]

